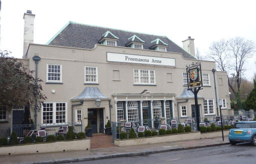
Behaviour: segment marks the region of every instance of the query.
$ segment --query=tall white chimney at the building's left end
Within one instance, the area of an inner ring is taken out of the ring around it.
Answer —
[[[26,58],[28,45],[34,41],[34,16],[31,10],[24,13],[24,40],[23,40],[23,58]]]

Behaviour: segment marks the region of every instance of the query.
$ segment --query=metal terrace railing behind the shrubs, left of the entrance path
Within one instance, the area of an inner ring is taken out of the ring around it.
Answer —
[[[25,137],[30,130],[45,130],[46,135],[55,135],[60,127],[73,127],[75,133],[83,132],[82,124],[76,122],[52,123],[52,124],[23,124],[0,127],[0,137],[9,137],[11,132],[15,132],[17,137]]]

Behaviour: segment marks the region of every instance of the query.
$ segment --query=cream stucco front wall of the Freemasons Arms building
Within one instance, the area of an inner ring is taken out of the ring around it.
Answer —
[[[175,59],[175,66],[155,66],[155,65],[143,65],[143,64],[127,64],[127,63],[113,63],[106,61],[106,52],[135,54],[135,55],[146,55],[156,57],[167,57]],[[81,48],[70,48],[70,47],[58,47],[49,45],[30,44],[26,57],[30,57],[28,64],[29,69],[34,70],[35,64],[31,59],[32,56],[38,55],[41,60],[38,62],[38,77],[44,82],[42,83],[43,92],[47,96],[45,102],[67,102],[67,119],[71,121],[71,99],[77,96],[85,87],[98,87],[100,92],[108,97],[111,101],[111,121],[115,121],[115,104],[113,94],[123,93],[141,93],[143,90],[148,90],[150,93],[174,93],[174,116],[177,116],[177,101],[175,98],[179,96],[186,86],[182,83],[182,72],[185,72],[185,65],[191,64],[196,60],[184,59],[179,53],[170,52],[158,52],[154,50],[139,50],[127,47],[112,47],[106,45],[95,45],[93,49],[81,49]],[[46,84],[46,65],[47,64],[61,64],[62,66],[62,84]],[[97,66],[98,69],[98,84],[97,85],[85,85],[84,84],[84,66]],[[214,80],[212,74],[212,68],[215,69],[215,63],[212,61],[201,61],[202,73],[208,73],[210,77],[210,86],[203,87],[199,91],[199,95],[205,99],[214,100],[215,105],[215,93],[214,93]],[[148,69],[155,71],[155,86],[150,85],[133,85],[133,69]],[[113,79],[113,70],[119,71],[119,80]],[[167,73],[172,74],[172,81],[167,80]],[[223,86],[218,89],[218,95],[222,97],[228,93],[227,81],[224,78],[226,72],[218,73],[218,76],[223,76]],[[222,87],[222,88],[221,88]],[[51,93],[55,90],[55,93]],[[227,90],[227,92],[226,92]],[[155,100],[159,97],[147,96],[147,100]],[[163,99],[166,97],[162,97]],[[123,99],[130,99],[123,96]],[[229,98],[226,97],[229,102]],[[136,100],[141,100],[137,97]],[[86,118],[87,109],[95,108],[94,101],[91,103],[84,102],[82,109],[82,118]],[[202,99],[198,102],[201,106],[201,116],[203,116],[203,101]],[[75,104],[75,103],[73,103]],[[188,114],[191,112],[191,105],[194,104],[193,99],[189,99],[187,105]],[[181,104],[179,104],[180,106]],[[230,106],[228,106],[230,107]],[[75,107],[78,108],[78,107]],[[109,119],[109,106],[108,101],[102,102],[100,108],[104,108],[104,118],[106,123],[106,116]],[[180,108],[178,109],[180,110]],[[75,111],[75,110],[74,110]],[[41,111],[38,115],[38,123],[41,123]],[[180,112],[179,112],[180,114]],[[216,114],[216,112],[215,112]],[[86,126],[87,123],[84,123]]]

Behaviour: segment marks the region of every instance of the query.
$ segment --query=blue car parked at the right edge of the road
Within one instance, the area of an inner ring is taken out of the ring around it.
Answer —
[[[229,130],[230,144],[250,142],[256,146],[256,121],[236,122]]]

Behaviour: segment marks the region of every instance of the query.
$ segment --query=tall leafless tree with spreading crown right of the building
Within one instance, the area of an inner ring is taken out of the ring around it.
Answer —
[[[227,77],[228,86],[235,94],[240,91],[244,64],[252,57],[254,50],[254,43],[241,37],[214,41],[209,47],[209,58],[216,62],[217,69],[232,75],[231,78]],[[234,83],[237,90],[234,88]]]

